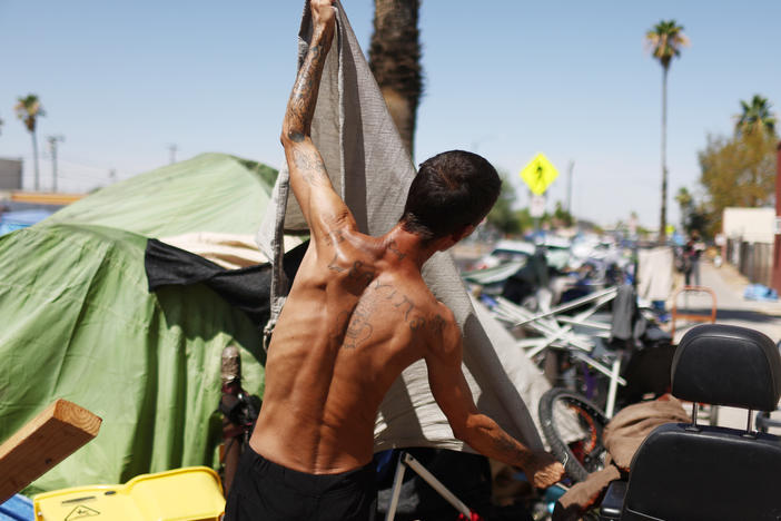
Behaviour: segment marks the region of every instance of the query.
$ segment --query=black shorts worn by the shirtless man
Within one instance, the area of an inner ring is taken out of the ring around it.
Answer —
[[[307,474],[247,446],[228,493],[224,521],[367,521],[375,515],[374,462],[342,474]]]

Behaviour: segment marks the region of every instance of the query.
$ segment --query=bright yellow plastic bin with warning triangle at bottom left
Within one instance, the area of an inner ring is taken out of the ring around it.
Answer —
[[[56,490],[32,503],[36,521],[219,521],[225,512],[219,476],[206,466],[141,474],[123,485]]]

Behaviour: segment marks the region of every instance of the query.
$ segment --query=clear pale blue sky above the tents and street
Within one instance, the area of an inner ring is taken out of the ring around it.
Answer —
[[[18,96],[40,96],[41,184],[51,186],[45,137],[63,135],[62,190],[87,190],[169,160],[224,151],[274,167],[296,65],[303,0],[0,0],[0,157],[30,164]],[[373,2],[343,0],[367,48]],[[423,0],[426,94],[416,161],[464,148],[521,187],[536,153],[560,169],[548,206],[610,225],[631,212],[655,226],[660,207],[661,67],[643,36],[661,19],[684,26],[692,46],[669,82],[670,200],[696,189],[708,134],[729,134],[739,101],[781,104],[778,0]],[[26,184],[32,169],[26,165]],[[520,190],[521,204],[527,194]]]

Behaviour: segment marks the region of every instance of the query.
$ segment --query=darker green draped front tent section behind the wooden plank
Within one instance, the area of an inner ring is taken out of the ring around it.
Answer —
[[[217,465],[220,355],[239,347],[263,392],[251,322],[205,285],[147,291],[146,237],[33,226],[0,237],[0,442],[56,399],[102,417],[98,436],[28,493]]]

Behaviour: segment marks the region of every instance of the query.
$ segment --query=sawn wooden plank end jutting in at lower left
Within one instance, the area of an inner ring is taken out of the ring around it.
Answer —
[[[0,445],[0,504],[98,435],[102,420],[57,400]]]

